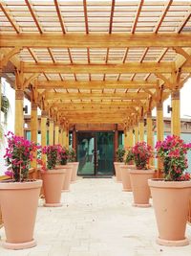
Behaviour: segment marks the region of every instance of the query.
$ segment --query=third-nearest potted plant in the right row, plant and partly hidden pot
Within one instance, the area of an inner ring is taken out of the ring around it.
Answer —
[[[132,148],[129,148],[126,152],[125,164],[120,166],[123,191],[132,191],[129,169],[135,169],[133,160],[134,154]]]

